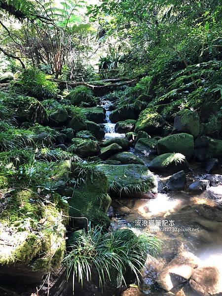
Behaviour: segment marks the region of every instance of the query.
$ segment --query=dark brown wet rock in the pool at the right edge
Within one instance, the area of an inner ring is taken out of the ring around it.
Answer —
[[[222,222],[222,208],[211,207],[211,206],[202,204],[202,205],[197,205],[195,207],[195,210],[200,216],[203,216],[208,220]]]

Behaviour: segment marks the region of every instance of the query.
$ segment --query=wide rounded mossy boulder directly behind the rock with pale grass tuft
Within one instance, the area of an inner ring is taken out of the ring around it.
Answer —
[[[193,136],[189,134],[170,135],[157,142],[158,155],[170,152],[178,152],[190,159],[194,153]]]

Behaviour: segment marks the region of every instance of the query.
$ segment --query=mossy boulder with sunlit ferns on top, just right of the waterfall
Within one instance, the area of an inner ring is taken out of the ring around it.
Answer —
[[[147,108],[140,113],[139,119],[136,122],[135,132],[145,131],[151,135],[158,135],[161,133],[163,126],[162,116]]]

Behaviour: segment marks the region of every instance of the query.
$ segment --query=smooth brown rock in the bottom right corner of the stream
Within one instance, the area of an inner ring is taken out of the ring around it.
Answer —
[[[198,267],[194,270],[189,284],[199,295],[222,295],[222,271],[217,266]]]

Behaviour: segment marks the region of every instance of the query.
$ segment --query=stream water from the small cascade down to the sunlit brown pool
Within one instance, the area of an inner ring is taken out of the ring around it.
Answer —
[[[124,134],[115,133],[115,123],[111,123],[111,102],[101,101],[101,104],[106,110],[105,138],[124,137]],[[130,152],[135,153],[133,148],[130,148]],[[148,165],[153,157],[149,155],[149,151],[135,155],[139,156],[145,165]],[[182,285],[180,290],[168,293],[155,283],[157,273],[180,252],[189,251],[201,259],[202,264],[219,264],[222,269],[222,219],[216,221],[212,214],[205,210],[207,205],[217,206],[222,211],[222,185],[211,186],[203,193],[191,193],[188,190],[188,185],[204,174],[201,165],[193,162],[186,174],[187,185],[183,191],[164,192],[164,184],[170,176],[156,175],[159,184],[157,198],[121,198],[112,201],[114,217],[111,226],[114,229],[147,229],[164,243],[161,256],[155,262],[147,261],[139,289],[129,288],[122,296],[198,296],[187,283]]]

